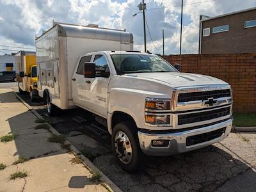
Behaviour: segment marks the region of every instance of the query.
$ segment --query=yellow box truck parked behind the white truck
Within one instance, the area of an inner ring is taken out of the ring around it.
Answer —
[[[19,92],[29,92],[31,100],[38,95],[36,53],[30,51],[19,51],[15,54],[17,83]]]

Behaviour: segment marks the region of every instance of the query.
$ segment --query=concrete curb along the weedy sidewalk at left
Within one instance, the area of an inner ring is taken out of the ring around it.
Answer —
[[[31,111],[37,118],[44,119],[39,113],[37,113],[35,111],[35,109],[31,108],[31,106],[29,106],[28,103],[26,103],[19,95],[17,95],[17,93],[15,93],[12,89],[10,89],[10,90],[15,94],[17,99],[19,99],[20,102],[22,102],[22,104],[24,104],[24,106],[26,106],[29,109],[29,111]],[[56,131],[56,129],[54,129],[52,127],[52,125],[50,125],[50,124],[48,124],[48,125],[50,126],[49,131],[51,131],[53,134],[61,135],[60,132]],[[72,145],[72,143],[70,143],[67,140],[65,141],[65,144],[66,143],[68,145],[70,145],[70,148],[73,151],[74,155],[79,156],[83,160],[83,163],[85,164],[86,168],[89,169],[89,171],[100,173],[100,175],[101,175],[100,180],[108,185],[107,190],[115,191],[115,192],[122,192],[122,190],[118,186],[116,186],[116,184],[112,180],[110,180],[104,173],[102,173],[99,170],[99,168],[97,168],[87,157],[85,157],[76,147],[74,147],[74,145]],[[77,154],[79,154],[79,155],[77,155]]]

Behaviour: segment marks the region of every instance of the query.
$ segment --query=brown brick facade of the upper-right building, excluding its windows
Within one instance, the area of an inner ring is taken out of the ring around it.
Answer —
[[[202,54],[256,52],[256,27],[244,28],[256,19],[256,9],[202,22],[202,29],[229,24],[229,31],[202,36]]]

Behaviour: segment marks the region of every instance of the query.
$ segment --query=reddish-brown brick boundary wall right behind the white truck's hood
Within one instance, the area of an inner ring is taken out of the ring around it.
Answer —
[[[233,90],[234,111],[256,113],[256,53],[187,54],[164,56],[180,63],[181,72],[204,74],[228,82]]]

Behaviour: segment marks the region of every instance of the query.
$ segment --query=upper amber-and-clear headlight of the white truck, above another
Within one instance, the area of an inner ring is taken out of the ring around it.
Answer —
[[[170,111],[170,99],[146,98],[146,111]]]

